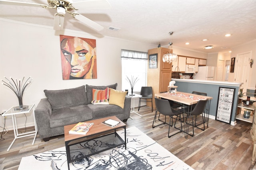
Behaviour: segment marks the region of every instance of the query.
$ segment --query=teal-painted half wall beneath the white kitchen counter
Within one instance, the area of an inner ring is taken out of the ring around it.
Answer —
[[[210,105],[210,115],[213,115],[213,116],[216,116],[219,87],[235,88],[231,121],[236,121],[236,110],[237,110],[237,104],[238,104],[239,87],[223,86],[223,85],[216,85],[216,84],[202,84],[202,83],[194,83],[194,82],[191,82],[191,83],[178,82],[178,81],[176,81],[175,86],[178,86],[177,91],[179,92],[187,92],[187,93],[192,93],[193,91],[204,92],[204,93],[207,93],[207,96],[213,97]]]

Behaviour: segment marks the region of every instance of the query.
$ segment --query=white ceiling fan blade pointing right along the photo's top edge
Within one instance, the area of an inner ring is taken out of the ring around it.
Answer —
[[[111,5],[107,0],[70,0],[71,4],[78,10],[84,9],[108,9]]]

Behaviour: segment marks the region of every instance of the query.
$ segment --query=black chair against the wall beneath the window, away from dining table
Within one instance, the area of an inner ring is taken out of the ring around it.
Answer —
[[[151,109],[152,109],[152,112],[153,112],[153,103],[152,103],[153,90],[152,90],[152,87],[150,87],[150,86],[141,87],[140,95],[141,95],[141,97],[140,97],[140,100],[139,100],[138,111],[140,111],[141,102],[151,102]]]

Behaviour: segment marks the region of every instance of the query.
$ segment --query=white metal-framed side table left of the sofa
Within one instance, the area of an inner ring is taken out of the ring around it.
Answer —
[[[28,137],[28,136],[35,135],[33,143],[32,143],[32,145],[34,145],[34,142],[36,140],[36,134],[37,134],[37,125],[36,125],[36,119],[35,119],[35,104],[30,104],[30,105],[28,105],[27,109],[23,109],[23,110],[14,110],[13,107],[15,107],[15,106],[12,106],[10,109],[8,109],[5,113],[2,114],[2,116],[12,115],[14,140],[12,141],[12,143],[11,143],[10,147],[7,149],[7,151],[10,150],[10,148],[12,147],[12,145],[15,142],[16,139],[22,138],[22,137]],[[16,115],[23,114],[23,113],[30,113],[31,110],[32,110],[32,113],[33,113],[33,116],[34,116],[35,130],[34,131],[29,131],[29,132],[26,132],[26,133],[22,133],[22,134],[18,134]]]

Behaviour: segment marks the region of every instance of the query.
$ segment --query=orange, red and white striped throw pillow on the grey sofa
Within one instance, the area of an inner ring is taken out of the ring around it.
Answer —
[[[105,90],[92,89],[92,104],[108,104],[109,88]]]

